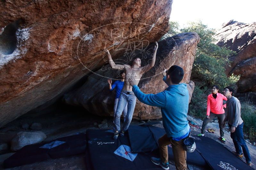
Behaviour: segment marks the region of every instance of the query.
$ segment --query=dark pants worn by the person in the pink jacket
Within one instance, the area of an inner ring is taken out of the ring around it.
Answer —
[[[222,127],[221,124],[222,124],[222,122],[224,121],[224,118],[225,118],[224,113],[223,114],[214,114],[214,113],[210,112],[210,118],[209,119],[205,118],[204,121],[203,121],[201,133],[204,134],[207,124],[210,121],[212,121],[212,119],[214,119],[215,117],[218,117],[219,127],[220,127],[220,137],[223,137],[224,136],[224,128]]]

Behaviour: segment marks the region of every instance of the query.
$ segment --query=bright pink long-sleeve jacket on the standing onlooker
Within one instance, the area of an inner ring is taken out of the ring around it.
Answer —
[[[212,94],[207,96],[207,111],[206,115],[210,115],[210,111],[214,114],[223,114],[225,113],[223,107],[226,108],[226,104],[223,105],[223,100],[228,100],[226,96],[217,93],[216,99],[212,96]]]

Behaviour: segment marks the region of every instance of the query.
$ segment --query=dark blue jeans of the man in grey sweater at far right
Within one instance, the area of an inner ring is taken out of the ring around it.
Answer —
[[[228,126],[229,126],[229,128],[231,128],[232,125],[228,124]],[[243,126],[244,126],[244,123],[238,125],[236,127],[235,132],[230,133],[230,137],[233,139],[233,143],[236,148],[236,153],[241,155],[242,149],[243,149],[246,162],[251,162],[250,152],[249,152],[248,147],[244,140]],[[241,149],[241,147],[242,147],[242,149]]]

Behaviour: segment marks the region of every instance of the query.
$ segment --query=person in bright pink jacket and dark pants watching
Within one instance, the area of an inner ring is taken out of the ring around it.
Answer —
[[[203,121],[201,133],[198,136],[204,136],[204,132],[206,129],[206,125],[212,121],[215,117],[218,117],[219,127],[220,127],[220,141],[226,143],[226,139],[224,138],[224,128],[222,127],[222,122],[225,118],[225,111],[223,107],[223,100],[228,100],[227,97],[222,95],[219,92],[219,87],[214,85],[212,86],[212,94],[207,96],[207,111],[206,118]]]

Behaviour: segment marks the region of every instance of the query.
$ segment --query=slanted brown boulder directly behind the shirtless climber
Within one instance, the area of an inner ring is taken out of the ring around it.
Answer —
[[[196,32],[180,33],[160,41],[158,43],[155,66],[141,77],[140,89],[146,94],[156,94],[163,91],[167,88],[167,85],[162,80],[164,68],[169,69],[172,65],[178,65],[184,69],[185,75],[182,82],[188,83],[191,98],[194,82],[190,81],[190,74],[198,42],[199,36]],[[134,53],[129,54],[125,53],[122,57],[116,59],[115,63],[128,64],[129,59],[133,56],[140,57],[142,66],[144,66],[150,62],[154,46],[155,43],[152,43],[143,50],[136,50]],[[112,54],[113,51],[110,51],[110,53]],[[63,100],[67,104],[82,105],[92,114],[100,116],[113,115],[115,94],[108,90],[108,78],[118,79],[118,71],[111,69],[109,64],[91,74],[82,87],[66,94]],[[161,118],[161,110],[137,100],[133,118]]]

